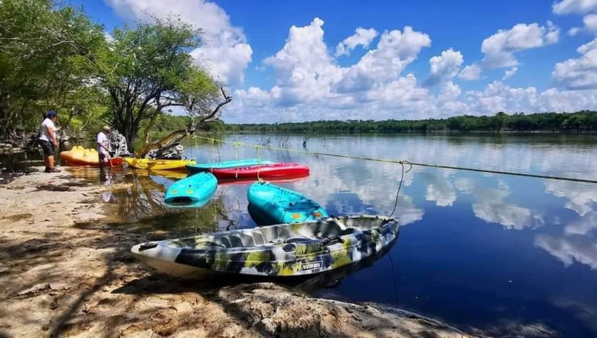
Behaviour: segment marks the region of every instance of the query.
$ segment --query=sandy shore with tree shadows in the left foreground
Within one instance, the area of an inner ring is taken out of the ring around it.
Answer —
[[[129,252],[142,235],[96,221],[107,213],[102,191],[67,172],[0,185],[0,337],[469,337],[273,283],[156,274]]]

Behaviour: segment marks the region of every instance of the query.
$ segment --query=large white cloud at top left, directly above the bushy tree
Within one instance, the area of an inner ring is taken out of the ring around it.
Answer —
[[[242,29],[232,26],[226,12],[205,0],[105,0],[123,17],[150,20],[147,14],[165,17],[176,14],[204,31],[205,44],[192,51],[208,71],[227,85],[242,83],[253,49]]]

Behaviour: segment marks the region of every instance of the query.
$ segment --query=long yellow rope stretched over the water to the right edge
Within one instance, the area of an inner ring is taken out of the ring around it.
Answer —
[[[189,134],[189,136],[190,137],[196,137],[196,138],[210,139],[210,138],[201,137],[201,136],[198,136],[198,135],[190,135]],[[224,140],[219,140],[219,141],[223,142],[223,143],[232,143],[230,141],[224,141]],[[256,146],[257,146],[257,144],[256,144]],[[294,149],[294,148],[272,147],[271,145],[259,145],[259,147],[260,148],[270,149],[270,150],[294,151],[296,153],[303,153],[303,154],[310,154],[310,155],[343,157],[345,159],[367,160],[367,161],[374,161],[374,162],[393,163],[393,164],[397,164],[397,165],[407,164],[407,165],[413,165],[413,166],[424,166],[424,167],[432,167],[432,168],[466,170],[466,171],[472,171],[472,172],[498,173],[498,174],[501,174],[501,175],[525,176],[525,177],[547,178],[547,179],[559,179],[561,181],[573,181],[573,182],[585,182],[585,183],[595,183],[595,184],[597,184],[597,180],[595,180],[595,179],[584,179],[584,178],[573,178],[573,177],[559,177],[559,176],[547,176],[547,175],[536,175],[536,174],[533,174],[533,173],[521,173],[521,172],[509,172],[509,171],[502,171],[502,170],[466,168],[466,167],[458,167],[458,166],[437,165],[437,164],[433,164],[433,163],[410,162],[410,161],[407,161],[407,160],[376,159],[375,157],[353,156],[353,155],[333,154],[333,153],[321,153],[319,151],[309,151],[309,150],[301,150],[301,149]]]

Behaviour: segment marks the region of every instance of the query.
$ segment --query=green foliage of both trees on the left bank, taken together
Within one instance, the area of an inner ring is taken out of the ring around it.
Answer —
[[[97,132],[110,123],[132,150],[141,125],[147,142],[162,111],[216,120],[231,98],[189,54],[201,43],[201,29],[179,17],[106,35],[70,5],[0,0],[0,137],[35,130],[42,112],[56,110],[63,130]],[[181,129],[188,127],[187,118]]]

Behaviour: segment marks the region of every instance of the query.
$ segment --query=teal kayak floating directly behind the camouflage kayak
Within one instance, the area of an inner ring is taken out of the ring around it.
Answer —
[[[328,213],[316,201],[268,182],[255,182],[247,191],[249,214],[258,225],[316,221]]]

